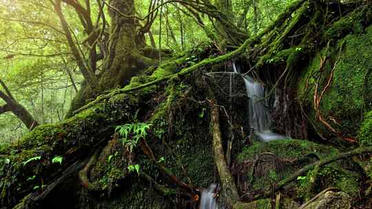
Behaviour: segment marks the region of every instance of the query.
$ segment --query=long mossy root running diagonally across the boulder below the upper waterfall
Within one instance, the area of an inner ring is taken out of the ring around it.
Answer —
[[[298,176],[303,175],[304,173],[307,173],[309,170],[315,168],[316,166],[318,166],[320,168],[321,166],[330,164],[331,162],[334,162],[338,159],[344,159],[344,158],[347,158],[347,157],[351,157],[353,155],[360,155],[360,154],[363,154],[363,153],[372,153],[372,146],[355,148],[353,151],[349,151],[349,152],[346,152],[346,153],[340,153],[339,155],[327,157],[327,158],[321,159],[318,162],[315,162],[313,164],[309,164],[307,166],[304,166],[300,170],[297,170],[295,173],[293,173],[293,175],[290,175],[289,177],[287,177],[285,179],[282,179],[282,181],[279,181],[275,186],[273,186],[273,188],[270,188],[266,192],[263,192],[259,195],[254,196],[253,200],[262,199],[262,198],[265,198],[265,197],[270,197],[270,195],[272,194],[273,191],[280,190],[281,188],[285,187],[287,184],[291,183],[292,181],[295,181]]]

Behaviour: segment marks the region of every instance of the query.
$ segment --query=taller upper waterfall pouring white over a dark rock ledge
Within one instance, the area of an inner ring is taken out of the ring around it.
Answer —
[[[233,63],[233,69],[234,72],[240,73],[235,63]],[[247,75],[242,78],[245,81],[245,88],[249,98],[249,125],[251,129],[254,129],[255,135],[264,142],[285,138],[270,131],[270,114],[267,108],[267,100],[265,99],[264,85]]]

